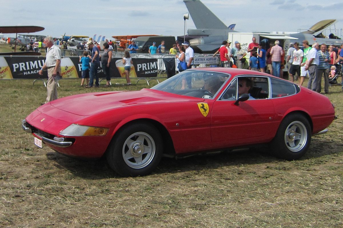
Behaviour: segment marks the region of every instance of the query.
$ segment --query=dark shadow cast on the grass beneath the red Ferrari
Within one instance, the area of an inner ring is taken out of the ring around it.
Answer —
[[[307,153],[299,160],[330,155],[339,152],[342,146],[343,143],[337,141],[331,142],[326,139],[316,138],[312,140]],[[49,152],[46,156],[48,160],[55,162],[54,165],[58,169],[66,169],[73,175],[84,179],[122,178],[109,167],[105,158],[84,160],[67,157],[57,152]],[[196,154],[177,159],[162,158],[152,174],[200,171],[224,166],[263,164],[274,161],[283,160],[273,157],[267,145],[258,145],[247,150]]]

